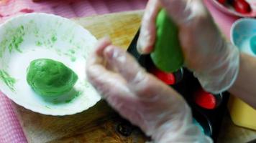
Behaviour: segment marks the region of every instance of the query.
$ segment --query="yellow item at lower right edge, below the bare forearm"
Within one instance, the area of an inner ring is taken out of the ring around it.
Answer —
[[[256,109],[237,97],[230,96],[229,113],[234,124],[256,130]]]

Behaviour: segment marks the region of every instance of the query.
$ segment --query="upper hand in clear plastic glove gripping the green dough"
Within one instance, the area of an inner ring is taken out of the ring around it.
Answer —
[[[150,0],[142,19],[138,51],[148,54],[153,50],[155,19],[161,7],[178,25],[185,66],[202,87],[215,94],[229,89],[237,78],[239,51],[222,37],[201,0]]]

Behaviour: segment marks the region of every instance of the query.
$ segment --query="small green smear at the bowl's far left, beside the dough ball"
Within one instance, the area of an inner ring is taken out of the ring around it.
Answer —
[[[6,86],[9,87],[9,89],[11,89],[13,92],[15,91],[14,84],[16,80],[10,77],[6,71],[0,70],[0,78],[6,84]]]

